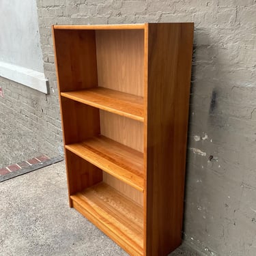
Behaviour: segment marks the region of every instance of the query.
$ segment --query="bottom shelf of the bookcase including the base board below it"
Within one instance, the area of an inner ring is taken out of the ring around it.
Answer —
[[[74,208],[130,255],[143,255],[143,208],[104,182],[70,196]]]

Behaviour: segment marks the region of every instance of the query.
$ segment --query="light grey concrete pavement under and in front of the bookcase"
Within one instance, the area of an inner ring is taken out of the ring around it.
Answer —
[[[65,162],[0,183],[0,255],[127,255],[69,208]],[[181,246],[175,255],[198,255]]]

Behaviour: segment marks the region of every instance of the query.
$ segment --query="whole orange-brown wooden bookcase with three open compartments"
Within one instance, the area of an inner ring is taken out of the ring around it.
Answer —
[[[70,207],[130,255],[181,243],[193,23],[53,25]]]

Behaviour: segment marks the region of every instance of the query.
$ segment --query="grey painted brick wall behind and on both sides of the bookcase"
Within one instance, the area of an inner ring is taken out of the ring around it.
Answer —
[[[5,154],[59,153],[51,25],[193,21],[184,240],[207,255],[256,255],[255,2],[38,0],[51,94],[1,79]]]

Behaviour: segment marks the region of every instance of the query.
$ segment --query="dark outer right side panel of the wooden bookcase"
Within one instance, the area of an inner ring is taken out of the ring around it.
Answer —
[[[148,25],[146,255],[180,245],[193,23]]]

